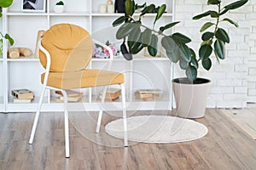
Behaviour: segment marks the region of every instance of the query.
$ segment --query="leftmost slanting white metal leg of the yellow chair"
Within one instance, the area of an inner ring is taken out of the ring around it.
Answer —
[[[39,116],[40,116],[40,110],[41,110],[41,106],[42,106],[43,99],[44,99],[44,92],[45,92],[45,86],[43,87],[43,90],[42,90],[41,95],[40,95],[38,110],[36,112],[36,116],[35,116],[33,126],[32,126],[32,132],[30,134],[30,138],[29,138],[29,141],[28,141],[29,144],[33,143],[33,139],[34,139],[34,136],[35,136],[35,133],[36,133],[36,129],[38,127],[38,119],[39,119]]]

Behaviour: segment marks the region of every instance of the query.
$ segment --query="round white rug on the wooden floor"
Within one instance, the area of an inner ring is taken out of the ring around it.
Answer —
[[[208,133],[200,122],[175,116],[131,116],[127,118],[128,140],[143,143],[177,143],[200,139]],[[123,139],[123,119],[109,122],[106,132]]]

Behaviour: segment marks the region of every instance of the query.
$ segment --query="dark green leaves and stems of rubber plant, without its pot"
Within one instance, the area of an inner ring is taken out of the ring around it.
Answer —
[[[143,48],[147,48],[148,54],[151,56],[156,56],[161,43],[168,59],[173,63],[178,63],[180,68],[185,71],[189,81],[195,82],[199,65],[202,65],[207,71],[211,69],[212,54],[218,62],[220,59],[225,59],[225,44],[230,43],[230,37],[221,23],[226,22],[238,27],[236,21],[225,17],[225,14],[240,8],[247,1],[239,0],[223,6],[221,0],[206,0],[207,5],[215,7],[215,10],[211,9],[193,17],[193,20],[201,20],[206,17],[211,19],[201,26],[201,44],[197,53],[189,48],[188,43],[191,42],[189,37],[180,32],[168,33],[179,21],[166,23],[159,28],[155,27],[156,22],[166,13],[166,4],[155,7],[154,4],[138,5],[134,0],[126,0],[125,14],[114,20],[113,26],[119,26],[116,38],[123,40],[120,49],[125,59],[131,60],[132,54],[139,53]],[[137,9],[140,9],[141,12],[138,17],[134,17]],[[142,18],[148,13],[155,13],[152,28],[143,25]]]

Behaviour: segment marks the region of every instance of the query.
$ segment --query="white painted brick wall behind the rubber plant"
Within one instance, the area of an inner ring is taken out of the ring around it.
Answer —
[[[225,4],[236,0],[226,0]],[[256,97],[256,22],[251,27],[251,18],[256,21],[256,2],[247,3],[228,14],[236,20],[239,27],[233,27],[227,23],[221,25],[229,32],[231,42],[227,44],[227,58],[220,61],[220,65],[212,55],[212,69],[210,71],[200,70],[199,77],[207,77],[212,80],[212,89],[207,100],[207,107],[219,108],[243,108],[246,107],[247,100]],[[209,10],[207,0],[177,0],[175,20],[181,23],[175,27],[175,31],[189,36],[193,42],[189,47],[198,51],[201,42],[199,32],[206,20],[192,20],[196,14],[201,14]],[[210,7],[212,9],[212,6]],[[252,13],[254,10],[254,14]],[[252,16],[253,15],[253,16]],[[253,55],[254,53],[254,55]],[[253,61],[253,63],[251,62]],[[248,68],[247,64],[250,63]],[[247,76],[248,75],[248,76]],[[247,77],[250,77],[247,82]],[[255,78],[255,79],[254,79]],[[253,81],[254,80],[254,81]],[[254,99],[255,101],[255,99]]]

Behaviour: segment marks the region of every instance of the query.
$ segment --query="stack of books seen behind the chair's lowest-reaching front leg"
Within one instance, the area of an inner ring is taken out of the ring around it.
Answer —
[[[66,90],[67,92],[67,101],[68,102],[79,102],[83,99],[83,93],[77,92],[74,90]],[[58,96],[55,98],[57,102],[63,102],[64,97],[61,91],[55,91],[55,94],[58,94]]]

